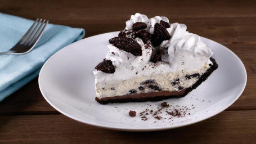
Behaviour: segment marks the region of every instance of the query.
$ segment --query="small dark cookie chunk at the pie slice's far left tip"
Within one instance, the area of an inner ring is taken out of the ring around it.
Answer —
[[[98,64],[95,67],[95,69],[103,71],[104,73],[109,73],[109,74],[114,74],[115,73],[115,67],[112,64],[111,60],[102,61],[100,64]]]

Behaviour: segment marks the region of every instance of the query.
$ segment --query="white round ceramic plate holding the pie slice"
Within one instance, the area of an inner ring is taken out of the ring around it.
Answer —
[[[186,97],[164,100],[177,109],[187,106],[190,110],[183,117],[173,118],[163,111],[161,120],[147,115],[149,119],[143,121],[140,115],[128,115],[130,110],[137,113],[145,109],[155,111],[163,101],[98,104],[92,71],[106,56],[108,40],[117,33],[79,40],[55,53],[44,64],[39,74],[39,87],[51,106],[71,119],[97,127],[119,131],[159,131],[197,123],[221,113],[244,91],[247,75],[239,57],[221,44],[201,38],[212,48],[219,68]]]

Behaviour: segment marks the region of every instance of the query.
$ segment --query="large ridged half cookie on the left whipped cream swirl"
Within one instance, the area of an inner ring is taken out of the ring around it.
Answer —
[[[109,39],[109,43],[125,52],[132,53],[134,56],[142,56],[141,45],[132,38],[114,37]]]

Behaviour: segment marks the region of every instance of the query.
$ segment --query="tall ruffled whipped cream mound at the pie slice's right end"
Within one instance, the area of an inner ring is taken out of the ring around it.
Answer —
[[[172,38],[165,40],[161,43],[160,48],[164,52],[161,60],[169,62],[171,68],[176,71],[182,69],[193,71],[212,64],[209,60],[213,55],[210,48],[200,40],[199,35],[187,33],[187,31],[181,38],[173,42]]]

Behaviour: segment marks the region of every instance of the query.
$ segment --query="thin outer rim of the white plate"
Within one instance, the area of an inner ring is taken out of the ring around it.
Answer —
[[[91,37],[88,37],[88,38],[93,38],[93,37],[98,37],[99,35],[105,35],[105,34],[117,34],[119,33],[119,31],[112,31],[112,32],[109,32],[109,33],[103,33],[103,34],[97,34],[97,35],[93,35]],[[74,42],[74,43],[79,43],[81,42],[82,40],[85,40],[85,39],[88,39],[88,38],[84,38],[84,39],[81,39],[81,40],[78,40],[77,42]],[[77,120],[78,122],[81,122],[81,123],[84,123],[84,124],[88,124],[88,125],[93,125],[95,127],[100,127],[100,128],[105,128],[105,129],[111,129],[111,130],[115,130],[115,131],[130,131],[130,132],[148,132],[148,131],[163,131],[163,130],[167,130],[167,129],[174,129],[174,128],[179,128],[179,127],[185,127],[186,125],[191,125],[191,124],[195,124],[195,123],[199,123],[205,119],[209,119],[209,118],[212,118],[213,116],[219,114],[219,113],[222,113],[222,111],[226,110],[228,107],[230,107],[241,95],[242,93],[244,92],[244,89],[246,87],[246,83],[247,83],[247,72],[246,72],[246,69],[245,69],[245,66],[244,66],[244,63],[241,61],[241,59],[239,59],[239,57],[234,53],[232,52],[229,48],[223,46],[221,43],[218,43],[218,42],[215,42],[214,40],[211,40],[211,39],[208,39],[208,38],[205,38],[205,37],[201,37],[200,38],[203,38],[205,40],[209,40],[209,41],[212,41],[214,43],[217,43],[219,45],[222,46],[222,48],[225,48],[226,50],[228,50],[230,53],[232,53],[233,56],[236,57],[236,59],[239,60],[239,62],[241,63],[242,65],[242,71],[245,73],[245,79],[244,79],[244,83],[242,85],[242,90],[239,92],[239,95],[229,104],[229,105],[226,105],[226,107],[223,107],[223,109],[219,110],[217,113],[214,113],[213,115],[210,115],[210,116],[206,116],[205,118],[203,119],[199,119],[199,120],[194,120],[192,122],[187,122],[187,123],[182,123],[182,124],[176,124],[176,125],[170,125],[170,126],[163,126],[163,127],[154,127],[154,128],[150,128],[150,127],[147,127],[147,128],[125,128],[125,127],[114,127],[113,125],[104,125],[104,124],[97,124],[97,123],[91,123],[91,122],[84,122],[84,120],[81,120],[79,118],[75,118],[75,116],[73,115],[70,115],[70,114],[67,114],[65,113],[64,111],[60,110],[58,107],[56,107],[54,104],[52,104],[52,102],[48,99],[48,97],[46,96],[46,94],[43,92],[42,90],[42,86],[41,86],[41,75],[42,75],[42,71],[44,69],[44,66],[46,66],[48,64],[49,61],[51,61],[51,59],[53,59],[54,56],[58,55],[61,51],[64,51],[66,50],[66,48],[69,48],[70,46],[72,46],[74,43],[71,43],[69,44],[68,46],[65,46],[64,48],[62,48],[61,50],[57,51],[56,53],[54,53],[46,62],[44,62],[44,65],[42,66],[40,72],[39,72],[39,76],[38,76],[38,84],[39,84],[39,89],[44,97],[44,99],[46,99],[46,101],[48,102],[48,104],[50,104],[54,109],[56,109],[57,111],[59,111],[61,114],[65,115],[65,116],[68,116],[69,118],[71,119],[74,119],[74,120]]]

